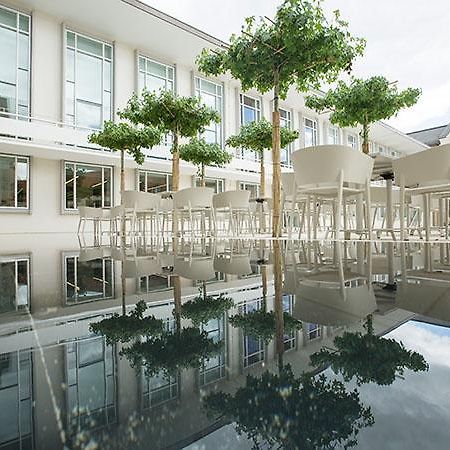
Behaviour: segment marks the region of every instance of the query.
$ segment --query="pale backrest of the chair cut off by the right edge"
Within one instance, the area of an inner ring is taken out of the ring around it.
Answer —
[[[392,162],[398,184],[433,186],[450,183],[450,144],[404,156]]]

